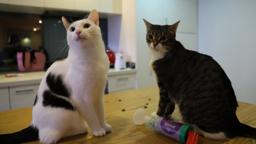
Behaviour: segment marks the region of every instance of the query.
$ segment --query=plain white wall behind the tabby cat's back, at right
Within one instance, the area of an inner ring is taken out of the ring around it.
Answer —
[[[255,23],[255,0],[198,0],[198,51],[222,66],[238,101],[256,105]]]

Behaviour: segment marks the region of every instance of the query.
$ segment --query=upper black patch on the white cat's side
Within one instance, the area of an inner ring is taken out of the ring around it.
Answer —
[[[54,94],[65,96],[67,98],[70,97],[69,91],[65,86],[65,83],[63,82],[61,75],[55,76],[49,73],[46,77],[46,83],[50,91],[52,91]]]

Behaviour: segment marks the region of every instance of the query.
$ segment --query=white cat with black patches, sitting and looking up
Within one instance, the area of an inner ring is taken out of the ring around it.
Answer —
[[[97,137],[110,132],[103,104],[109,60],[98,13],[92,10],[87,19],[73,23],[65,17],[62,21],[67,30],[68,57],[46,71],[34,102],[31,125],[19,132],[1,134],[1,143],[56,143],[62,137],[87,132],[84,120]]]

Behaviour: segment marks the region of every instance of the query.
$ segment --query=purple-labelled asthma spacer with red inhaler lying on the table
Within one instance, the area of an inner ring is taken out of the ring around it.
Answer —
[[[191,125],[175,122],[160,116],[153,118],[148,116],[146,111],[142,108],[135,111],[133,122],[137,125],[144,123],[151,125],[155,131],[174,138],[183,144],[197,144],[198,141],[198,134],[193,132]]]

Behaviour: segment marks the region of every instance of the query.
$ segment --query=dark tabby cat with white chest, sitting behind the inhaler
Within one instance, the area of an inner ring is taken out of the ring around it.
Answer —
[[[179,21],[164,26],[144,22],[150,66],[159,87],[157,115],[171,117],[176,104],[184,123],[208,139],[256,138],[256,129],[236,117],[236,96],[220,65],[175,39]]]

